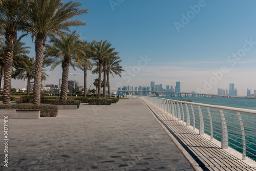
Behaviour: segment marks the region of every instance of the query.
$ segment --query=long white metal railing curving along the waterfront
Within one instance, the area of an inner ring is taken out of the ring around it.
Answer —
[[[145,99],[186,126],[193,126],[193,130],[198,129],[200,135],[219,140],[223,149],[236,149],[242,153],[242,160],[256,160],[256,110],[148,96],[127,97]]]

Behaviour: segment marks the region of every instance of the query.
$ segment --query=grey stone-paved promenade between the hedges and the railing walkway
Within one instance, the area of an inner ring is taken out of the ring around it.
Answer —
[[[5,167],[0,120],[0,170],[194,170],[141,99],[8,123]]]

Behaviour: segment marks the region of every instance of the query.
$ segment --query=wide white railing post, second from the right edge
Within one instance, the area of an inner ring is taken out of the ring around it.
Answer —
[[[221,119],[221,148],[228,148],[228,132],[227,132],[227,123],[224,116],[224,113],[219,109],[220,119]]]

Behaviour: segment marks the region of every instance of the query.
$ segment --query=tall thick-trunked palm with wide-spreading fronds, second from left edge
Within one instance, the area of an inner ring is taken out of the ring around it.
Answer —
[[[83,26],[85,22],[72,19],[77,15],[88,13],[88,9],[78,9],[80,2],[68,2],[63,4],[62,0],[37,0],[31,1],[27,12],[29,17],[28,32],[35,37],[35,60],[36,70],[34,79],[33,104],[40,103],[42,59],[44,58],[44,47],[47,37],[51,34],[62,34],[70,31],[70,26]],[[65,68],[65,67],[64,67]],[[62,92],[62,98],[65,96]]]

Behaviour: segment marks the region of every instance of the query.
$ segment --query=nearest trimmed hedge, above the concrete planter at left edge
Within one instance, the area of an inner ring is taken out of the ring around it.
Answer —
[[[40,117],[56,117],[58,106],[52,104],[0,104],[1,109],[40,110]]]

